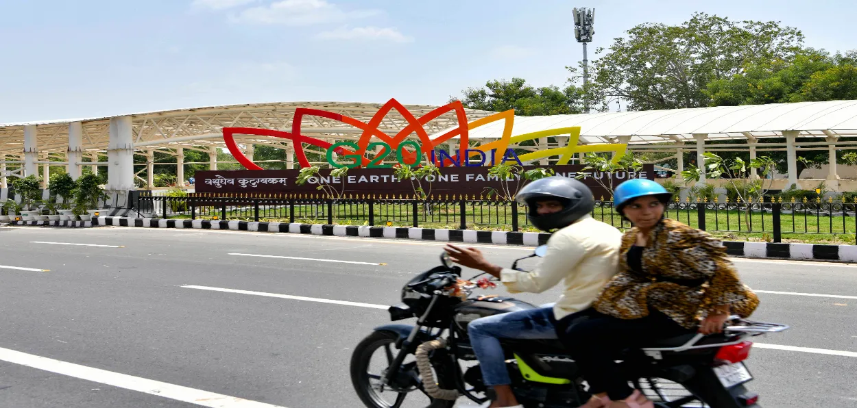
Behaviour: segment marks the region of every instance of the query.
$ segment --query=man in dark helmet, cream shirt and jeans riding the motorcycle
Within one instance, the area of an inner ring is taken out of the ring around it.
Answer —
[[[468,331],[486,385],[494,395],[483,407],[523,408],[512,393],[500,347],[503,339],[556,339],[555,323],[590,307],[602,287],[616,273],[621,233],[593,219],[592,192],[578,180],[548,177],[530,182],[516,197],[526,205],[527,218],[543,231],[559,228],[548,239],[548,251],[531,272],[504,269],[489,263],[476,248],[446,245],[456,263],[487,272],[506,285],[510,293],[542,293],[565,280],[560,299],[553,306],[488,316],[470,322]]]

